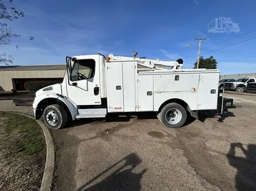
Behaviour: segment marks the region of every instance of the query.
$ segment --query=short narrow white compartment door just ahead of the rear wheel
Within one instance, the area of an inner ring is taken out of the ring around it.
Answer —
[[[153,111],[153,75],[138,75],[137,111]]]

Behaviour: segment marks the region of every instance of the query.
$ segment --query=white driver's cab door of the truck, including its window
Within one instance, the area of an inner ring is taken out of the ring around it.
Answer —
[[[66,85],[68,98],[76,105],[101,105],[99,55],[75,60]]]

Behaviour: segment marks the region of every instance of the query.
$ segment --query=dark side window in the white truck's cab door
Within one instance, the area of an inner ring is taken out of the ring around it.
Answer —
[[[79,81],[93,78],[95,74],[95,60],[76,60],[72,71],[71,81]]]

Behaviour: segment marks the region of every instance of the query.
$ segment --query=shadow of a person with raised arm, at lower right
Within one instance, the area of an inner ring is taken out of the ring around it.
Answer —
[[[236,148],[241,149],[245,157],[236,157]],[[256,190],[256,145],[249,144],[245,149],[242,143],[231,143],[227,158],[229,165],[237,169],[237,190]]]

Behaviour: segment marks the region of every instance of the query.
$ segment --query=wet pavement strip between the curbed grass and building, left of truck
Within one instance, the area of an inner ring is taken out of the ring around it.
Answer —
[[[33,100],[0,100],[0,111],[15,111],[33,116]]]

